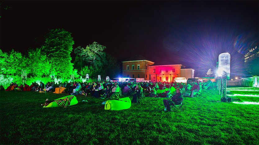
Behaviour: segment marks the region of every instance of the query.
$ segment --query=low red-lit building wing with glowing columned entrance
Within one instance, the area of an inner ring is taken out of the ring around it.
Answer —
[[[181,64],[149,66],[149,80],[151,82],[174,82],[174,78],[181,77]]]

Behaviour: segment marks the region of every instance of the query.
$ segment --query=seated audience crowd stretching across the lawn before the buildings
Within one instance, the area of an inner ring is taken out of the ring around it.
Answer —
[[[133,96],[132,103],[139,103],[143,96],[149,96],[153,98],[170,98],[163,100],[165,105],[165,111],[168,111],[169,105],[179,103],[179,100],[185,96],[194,97],[196,94],[200,94],[202,90],[201,83],[177,83],[177,82],[48,82],[44,84],[40,82],[32,82],[29,85],[24,84],[18,86],[17,83],[11,83],[7,89],[0,86],[1,91],[44,91],[55,92],[55,88],[65,88],[65,93],[68,95],[84,95],[93,96],[102,99],[113,99],[115,95],[118,95],[121,91],[124,96]],[[174,87],[174,92],[171,92],[171,87]],[[166,89],[167,88],[167,89]],[[157,90],[164,90],[162,93],[157,93]],[[182,93],[184,92],[184,93]],[[174,94],[174,95],[173,95]],[[116,99],[116,98],[115,98]]]

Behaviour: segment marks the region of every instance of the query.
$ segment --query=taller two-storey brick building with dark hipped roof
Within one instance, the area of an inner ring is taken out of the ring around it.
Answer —
[[[144,78],[149,80],[149,67],[154,62],[148,60],[134,60],[122,62],[122,75],[129,78]]]

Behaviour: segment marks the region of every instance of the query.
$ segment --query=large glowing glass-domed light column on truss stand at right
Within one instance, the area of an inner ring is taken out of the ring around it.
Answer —
[[[221,101],[226,102],[227,93],[227,80],[230,76],[230,54],[221,53],[219,55],[219,69],[218,69],[218,81],[219,81],[219,93]],[[224,99],[225,98],[225,99]]]

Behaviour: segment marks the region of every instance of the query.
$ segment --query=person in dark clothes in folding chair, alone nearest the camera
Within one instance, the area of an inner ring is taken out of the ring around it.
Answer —
[[[169,100],[163,100],[165,111],[170,111],[170,105],[178,105],[181,104],[182,101],[182,93],[180,89],[176,89],[176,94]]]

